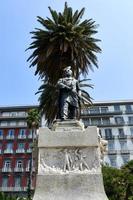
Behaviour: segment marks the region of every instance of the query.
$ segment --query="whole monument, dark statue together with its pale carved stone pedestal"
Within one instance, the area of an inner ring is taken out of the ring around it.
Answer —
[[[76,120],[80,88],[70,67],[59,79],[58,120],[40,128],[38,173],[33,200],[107,200],[101,160],[106,141],[97,127]]]

